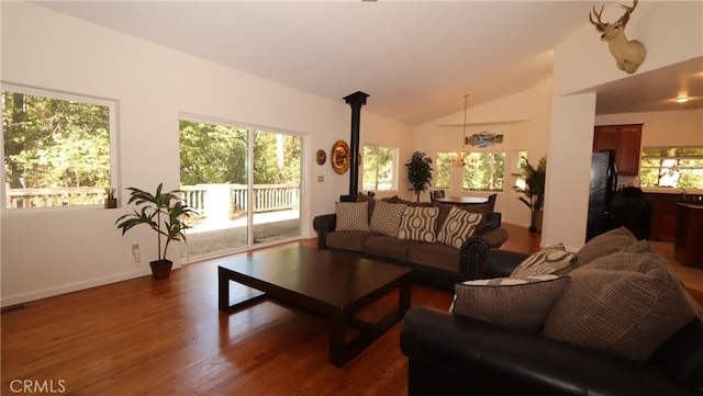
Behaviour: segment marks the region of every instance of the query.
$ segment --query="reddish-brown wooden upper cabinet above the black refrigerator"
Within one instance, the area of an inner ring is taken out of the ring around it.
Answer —
[[[593,133],[593,151],[615,150],[617,173],[622,176],[637,176],[641,156],[641,126],[599,125]]]

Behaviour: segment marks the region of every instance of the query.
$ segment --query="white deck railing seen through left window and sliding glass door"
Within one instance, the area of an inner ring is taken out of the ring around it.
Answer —
[[[226,215],[230,218],[245,213],[248,188],[245,184],[198,184],[180,188],[186,204],[202,216]],[[102,204],[107,194],[101,188],[8,189],[7,206],[48,207]],[[254,184],[254,212],[283,211],[300,205],[298,184]]]

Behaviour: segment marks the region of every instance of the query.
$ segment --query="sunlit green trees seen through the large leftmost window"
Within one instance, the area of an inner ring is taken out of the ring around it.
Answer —
[[[111,184],[109,108],[2,91],[2,126],[11,189]]]

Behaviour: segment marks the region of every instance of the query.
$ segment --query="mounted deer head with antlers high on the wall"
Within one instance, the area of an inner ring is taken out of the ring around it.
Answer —
[[[595,25],[595,29],[599,32],[603,33],[601,35],[601,39],[607,42],[607,47],[610,48],[611,54],[613,54],[613,57],[615,57],[617,67],[632,75],[637,71],[639,65],[645,60],[647,49],[640,42],[636,39],[631,42],[625,37],[625,25],[627,24],[627,21],[629,21],[629,14],[632,14],[637,7],[637,0],[635,0],[633,7],[623,4],[620,4],[620,7],[625,9],[625,13],[615,23],[603,23],[601,21],[603,5],[601,5],[601,12],[596,12],[595,7],[593,7],[593,13],[598,21],[593,21],[593,15],[590,12],[589,20]]]

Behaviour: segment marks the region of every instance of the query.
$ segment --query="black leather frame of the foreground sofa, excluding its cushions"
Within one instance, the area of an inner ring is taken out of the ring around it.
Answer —
[[[491,249],[471,271],[507,276],[526,257]],[[646,362],[424,306],[408,312],[400,341],[409,395],[703,395],[699,317]]]

